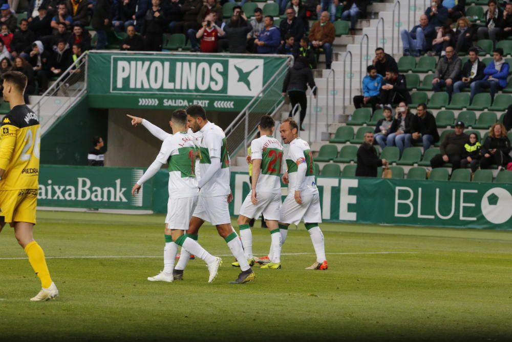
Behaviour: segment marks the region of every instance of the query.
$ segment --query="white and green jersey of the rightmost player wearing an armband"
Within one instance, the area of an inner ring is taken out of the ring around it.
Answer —
[[[288,168],[288,194],[293,194],[295,183],[297,182],[297,168],[298,165],[306,163],[306,176],[300,186],[302,194],[317,194],[318,188],[315,182],[315,164],[313,162],[313,155],[309,144],[301,139],[295,138],[290,143],[290,148],[286,156],[286,166]]]

